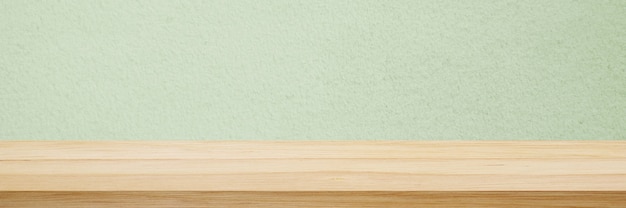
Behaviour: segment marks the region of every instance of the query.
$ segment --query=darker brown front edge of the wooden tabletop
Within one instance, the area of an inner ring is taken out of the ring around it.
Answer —
[[[0,192],[3,208],[622,208],[626,192]]]

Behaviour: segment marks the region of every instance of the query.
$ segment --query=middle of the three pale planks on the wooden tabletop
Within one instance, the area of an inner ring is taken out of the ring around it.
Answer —
[[[198,159],[9,160],[0,175],[217,175],[387,173],[421,175],[618,175],[617,159]],[[527,173],[525,173],[527,172]]]

